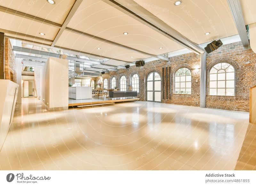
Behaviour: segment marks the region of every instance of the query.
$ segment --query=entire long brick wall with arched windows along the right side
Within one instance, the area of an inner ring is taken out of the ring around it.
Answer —
[[[120,87],[120,77],[126,76],[126,85],[131,84],[131,77],[137,73],[140,78],[140,100],[146,100],[146,78],[147,75],[156,71],[162,78],[162,67],[171,67],[171,87],[169,81],[166,83],[164,77],[164,99],[163,103],[199,106],[200,104],[200,55],[194,53],[183,54],[170,58],[171,64],[166,61],[156,60],[145,64],[143,67],[131,66],[129,69],[118,69],[117,72],[110,71],[108,87],[110,80],[116,77],[117,87]],[[236,69],[236,87],[235,97],[209,96],[208,95],[208,72],[216,63],[225,61],[231,63]],[[174,74],[180,67],[187,67],[191,71],[191,95],[178,95],[173,93]],[[169,70],[168,70],[169,73]],[[164,69],[164,75],[165,69]],[[169,77],[169,74],[167,74]],[[218,50],[206,55],[206,107],[249,111],[249,88],[256,85],[256,54],[249,48],[243,47],[241,42],[221,46]],[[167,86],[167,94],[166,94]],[[163,93],[163,91],[162,91]],[[170,95],[171,99],[169,99]],[[167,97],[166,97],[167,96]],[[168,99],[166,99],[168,98]]]

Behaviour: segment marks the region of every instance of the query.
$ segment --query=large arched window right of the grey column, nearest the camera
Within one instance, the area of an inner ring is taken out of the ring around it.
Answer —
[[[214,65],[209,73],[209,95],[235,96],[235,69],[229,63]]]

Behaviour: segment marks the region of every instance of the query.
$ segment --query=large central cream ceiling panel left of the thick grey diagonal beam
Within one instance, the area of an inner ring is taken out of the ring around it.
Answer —
[[[68,27],[154,55],[184,48],[99,0],[83,1]]]

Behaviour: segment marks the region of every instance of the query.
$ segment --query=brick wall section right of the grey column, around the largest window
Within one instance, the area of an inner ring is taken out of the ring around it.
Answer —
[[[235,67],[235,96],[209,96],[208,72],[214,64],[228,62]],[[256,85],[256,54],[241,42],[221,46],[206,56],[206,107],[249,111],[249,89]]]

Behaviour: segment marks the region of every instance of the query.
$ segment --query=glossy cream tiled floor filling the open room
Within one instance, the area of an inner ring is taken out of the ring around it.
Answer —
[[[2,170],[234,170],[248,112],[152,102],[48,112],[24,98]]]

